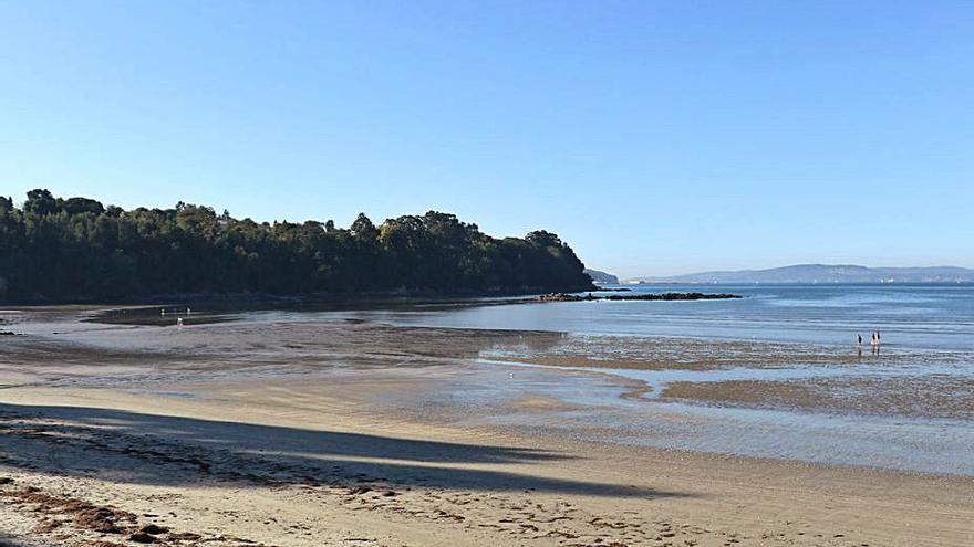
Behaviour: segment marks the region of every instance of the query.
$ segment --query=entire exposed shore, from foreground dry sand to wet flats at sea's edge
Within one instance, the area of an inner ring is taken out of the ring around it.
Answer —
[[[963,353],[860,360],[817,344],[341,314],[198,314],[180,328],[10,312],[0,522],[24,545],[960,546],[974,534]]]

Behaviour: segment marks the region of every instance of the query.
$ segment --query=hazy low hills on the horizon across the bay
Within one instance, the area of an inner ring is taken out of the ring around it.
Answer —
[[[769,270],[702,272],[670,277],[639,277],[634,283],[956,283],[974,282],[974,270],[956,266],[867,267],[796,264]]]

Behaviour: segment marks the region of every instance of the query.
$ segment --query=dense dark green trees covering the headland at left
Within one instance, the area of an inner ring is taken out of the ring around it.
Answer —
[[[255,222],[179,203],[125,211],[32,190],[0,197],[0,297],[120,299],[172,294],[572,291],[591,286],[553,233],[494,239],[453,214],[376,227]]]

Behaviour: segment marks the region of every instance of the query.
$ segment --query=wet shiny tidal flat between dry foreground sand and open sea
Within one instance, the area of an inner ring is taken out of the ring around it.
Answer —
[[[598,431],[593,438],[618,442],[974,474],[965,448],[974,446],[967,397],[974,369],[961,350],[860,356],[856,348],[814,344],[263,314],[177,329],[79,323],[68,311],[15,328],[27,336],[14,337],[0,357],[7,386],[127,386],[201,397],[205,390],[182,386],[314,385],[362,375],[371,383],[363,403],[424,421],[572,436]],[[384,380],[367,371],[392,375],[390,389],[380,389]],[[404,389],[412,385],[404,374],[418,381],[415,389]],[[910,428],[898,425],[903,420]],[[954,441],[931,441],[936,428]],[[840,430],[841,438],[816,433]],[[893,452],[902,456],[887,462]]]

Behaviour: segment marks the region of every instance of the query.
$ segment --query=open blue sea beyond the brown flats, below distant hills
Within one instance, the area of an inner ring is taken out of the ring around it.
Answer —
[[[353,315],[395,324],[868,344],[974,350],[974,285],[638,285],[629,293],[735,293],[740,299],[563,302],[512,306],[419,306]],[[598,293],[597,293],[598,294]],[[616,294],[616,293],[613,293]]]

